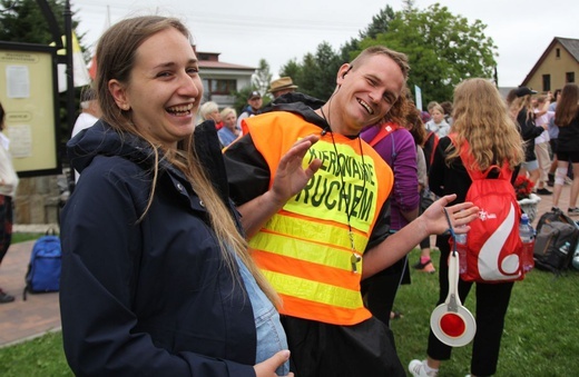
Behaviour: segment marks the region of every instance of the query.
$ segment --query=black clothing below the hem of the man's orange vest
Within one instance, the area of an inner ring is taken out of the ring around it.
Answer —
[[[282,316],[295,377],[406,376],[392,331],[372,317],[354,326]]]

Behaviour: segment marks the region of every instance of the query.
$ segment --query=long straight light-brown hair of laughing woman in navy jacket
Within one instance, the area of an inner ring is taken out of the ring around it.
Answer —
[[[167,159],[185,173],[193,189],[205,204],[222,256],[232,275],[241,282],[236,260],[229,249],[232,249],[252,271],[258,286],[269,300],[272,300],[274,305],[278,305],[279,298],[277,294],[255,266],[249,256],[247,242],[239,234],[232,214],[226,204],[219,198],[207,178],[204,168],[200,166],[195,151],[193,133],[186,140],[178,142],[177,149],[166,149],[158,140],[154,140],[150,136],[145,136],[139,132],[131,119],[133,110],[121,110],[109,92],[108,82],[112,79],[125,85],[130,83],[130,73],[135,66],[137,49],[140,44],[155,33],[169,28],[178,30],[190,40],[187,28],[175,18],[160,16],[136,17],[122,20],[110,27],[100,38],[96,52],[98,67],[96,88],[97,97],[102,109],[102,119],[119,132],[121,137],[128,132],[137,135],[149,142],[155,156],[156,163],[153,168],[150,197],[147,208],[139,220],[143,220],[153,204],[159,170],[159,159]],[[195,247],[195,245],[192,247]]]

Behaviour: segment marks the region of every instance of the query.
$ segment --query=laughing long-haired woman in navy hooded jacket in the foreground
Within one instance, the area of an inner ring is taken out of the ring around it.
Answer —
[[[248,254],[214,123],[195,127],[203,85],[188,30],[158,16],[122,20],[97,57],[102,117],[68,143],[81,177],[62,214],[72,371],[293,376],[278,297]]]

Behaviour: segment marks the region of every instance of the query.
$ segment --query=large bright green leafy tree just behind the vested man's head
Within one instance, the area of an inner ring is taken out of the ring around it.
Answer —
[[[411,1],[409,1],[411,2]],[[422,89],[423,103],[452,99],[454,87],[472,77],[492,78],[497,46],[480,20],[469,23],[439,3],[424,10],[412,4],[396,12],[389,31],[366,38],[361,50],[383,44],[409,56],[409,87]]]

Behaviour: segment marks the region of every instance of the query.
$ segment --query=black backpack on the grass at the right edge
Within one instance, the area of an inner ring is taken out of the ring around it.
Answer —
[[[560,209],[546,212],[537,225],[534,267],[559,275],[571,266],[579,227]]]

